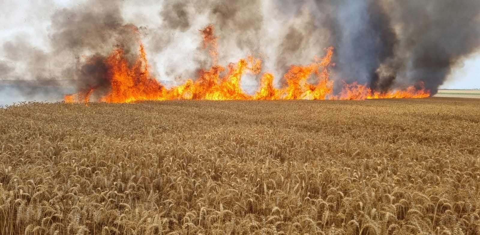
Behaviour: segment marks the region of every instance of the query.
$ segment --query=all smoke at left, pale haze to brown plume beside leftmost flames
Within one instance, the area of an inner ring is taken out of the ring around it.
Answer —
[[[116,0],[89,1],[55,11],[48,29],[48,50],[34,47],[20,36],[3,44],[5,57],[26,67],[15,72],[6,67],[10,72],[3,73],[2,79],[22,81],[24,94],[52,92],[44,86],[108,90],[108,68],[103,61],[106,56],[116,47],[124,50],[129,61],[138,54],[140,31],[123,21],[120,7]],[[90,58],[88,63],[82,57]]]

